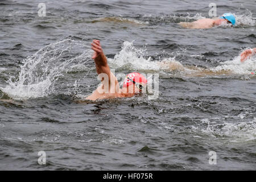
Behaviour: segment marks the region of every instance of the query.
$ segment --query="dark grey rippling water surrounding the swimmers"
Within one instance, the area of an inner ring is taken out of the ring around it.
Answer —
[[[255,47],[256,2],[214,1],[233,28],[176,24],[208,18],[211,2],[44,1],[39,17],[41,1],[0,1],[0,169],[255,170],[256,60],[239,55]],[[99,84],[95,38],[116,74],[158,73],[159,97],[77,103]]]

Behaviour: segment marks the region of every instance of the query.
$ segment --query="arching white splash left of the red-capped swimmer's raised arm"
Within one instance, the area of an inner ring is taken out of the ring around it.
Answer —
[[[44,97],[55,91],[54,83],[74,67],[85,69],[92,51],[83,42],[65,39],[43,47],[23,60],[18,78],[12,76],[1,90],[22,100]]]

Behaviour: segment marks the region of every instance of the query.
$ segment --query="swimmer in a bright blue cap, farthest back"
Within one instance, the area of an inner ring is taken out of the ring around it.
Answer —
[[[212,28],[221,24],[232,24],[234,26],[236,18],[231,13],[225,13],[217,19],[204,18],[195,22],[180,22],[178,24],[184,28]]]

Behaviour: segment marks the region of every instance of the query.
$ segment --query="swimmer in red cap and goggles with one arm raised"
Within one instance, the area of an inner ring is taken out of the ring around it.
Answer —
[[[101,78],[101,85],[86,100],[102,100],[107,98],[133,97],[142,93],[146,88],[147,79],[140,73],[129,73],[123,82],[123,88],[119,88],[117,78],[110,71],[108,61],[104,55],[100,40],[93,40],[92,49],[94,54],[92,59],[96,65],[96,72]]]

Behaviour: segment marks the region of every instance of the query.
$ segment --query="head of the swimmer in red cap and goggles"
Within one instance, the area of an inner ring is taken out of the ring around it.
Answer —
[[[123,90],[128,93],[141,93],[146,88],[147,79],[140,73],[129,73],[123,82]]]

